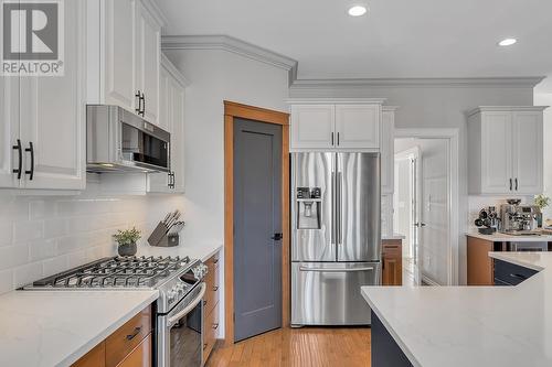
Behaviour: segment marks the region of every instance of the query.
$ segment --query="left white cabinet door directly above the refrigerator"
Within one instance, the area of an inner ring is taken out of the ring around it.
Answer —
[[[293,105],[290,147],[332,148],[336,141],[333,105]]]

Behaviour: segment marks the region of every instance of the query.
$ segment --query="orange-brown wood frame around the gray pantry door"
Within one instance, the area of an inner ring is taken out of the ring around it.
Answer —
[[[282,126],[282,325],[289,324],[289,114],[224,100],[224,341],[234,344],[234,119]]]

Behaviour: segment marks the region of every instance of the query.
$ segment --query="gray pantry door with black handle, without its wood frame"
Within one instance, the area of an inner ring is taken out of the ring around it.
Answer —
[[[279,234],[282,127],[234,119],[235,342],[282,326]]]

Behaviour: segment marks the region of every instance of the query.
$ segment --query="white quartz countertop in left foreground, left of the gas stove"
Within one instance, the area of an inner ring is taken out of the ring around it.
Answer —
[[[70,366],[158,291],[13,291],[0,295],[0,366]]]

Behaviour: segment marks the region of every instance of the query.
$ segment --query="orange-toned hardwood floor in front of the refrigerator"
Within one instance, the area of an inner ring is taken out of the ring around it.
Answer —
[[[213,350],[208,367],[368,367],[370,328],[282,328]]]

